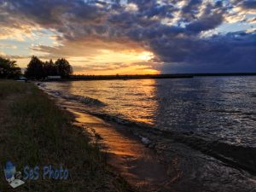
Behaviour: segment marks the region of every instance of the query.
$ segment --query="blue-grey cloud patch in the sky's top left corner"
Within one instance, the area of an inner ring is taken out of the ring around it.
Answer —
[[[42,25],[58,24],[59,21],[65,21],[62,20],[65,16],[78,20],[96,20],[101,16],[99,9],[84,1],[8,0],[3,1],[3,4],[3,8],[11,15],[34,20]]]

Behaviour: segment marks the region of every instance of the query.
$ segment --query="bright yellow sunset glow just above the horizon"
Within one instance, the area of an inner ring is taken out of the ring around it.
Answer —
[[[145,50],[113,51],[103,49],[100,54],[90,57],[72,57],[74,74],[115,75],[119,74],[159,74],[152,67],[154,54]],[[79,70],[77,70],[79,68]]]

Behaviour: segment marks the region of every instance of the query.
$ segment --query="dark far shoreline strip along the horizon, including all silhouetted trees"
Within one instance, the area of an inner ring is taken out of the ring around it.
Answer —
[[[0,79],[19,79],[22,76],[16,61],[11,61],[0,56]],[[79,81],[79,80],[128,80],[128,79],[187,79],[195,77],[217,76],[256,76],[253,73],[170,73],[170,74],[116,74],[116,75],[77,75],[73,74],[73,67],[64,59],[41,61],[32,55],[24,76],[27,79],[41,81]],[[50,78],[49,78],[50,77]]]

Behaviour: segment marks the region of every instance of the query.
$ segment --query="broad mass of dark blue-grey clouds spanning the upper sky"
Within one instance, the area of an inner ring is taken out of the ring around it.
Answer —
[[[137,9],[129,9],[127,3]],[[256,1],[184,0],[181,4],[177,0],[0,0],[0,25],[26,23],[54,29],[67,46],[82,44],[79,40],[84,38],[119,44],[137,42],[165,63],[163,73],[256,71],[255,33],[201,36],[221,25],[229,10],[236,7],[255,9]],[[40,50],[61,53],[61,47]]]

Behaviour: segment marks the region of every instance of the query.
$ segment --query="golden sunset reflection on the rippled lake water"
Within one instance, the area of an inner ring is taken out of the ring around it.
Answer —
[[[154,124],[154,117],[159,108],[155,99],[156,80],[113,80],[113,81],[74,81],[65,84],[49,84],[53,90],[67,94],[94,98],[106,106],[86,106],[90,112],[109,113],[122,119]]]

